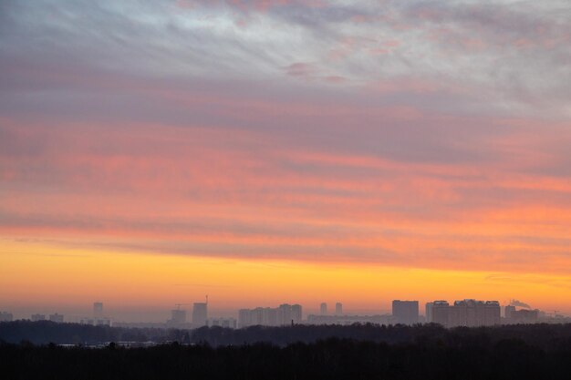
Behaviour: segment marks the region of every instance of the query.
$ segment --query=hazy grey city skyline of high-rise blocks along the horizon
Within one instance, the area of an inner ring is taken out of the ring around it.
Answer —
[[[250,306],[240,306],[238,309],[224,307],[223,304],[212,303],[175,303],[174,308],[161,311],[153,311],[149,313],[148,309],[140,308],[130,313],[120,313],[119,310],[113,310],[114,305],[106,307],[103,312],[103,303],[93,303],[91,313],[87,311],[77,313],[77,310],[67,314],[61,314],[54,306],[42,309],[44,313],[38,313],[38,308],[32,308],[34,312],[0,310],[0,321],[16,321],[31,320],[45,321],[49,320],[57,323],[80,323],[94,325],[137,325],[137,324],[153,324],[164,327],[182,327],[197,328],[203,325],[224,325],[225,327],[241,328],[250,325],[262,324],[269,326],[278,326],[289,324],[294,321],[295,324],[353,324],[353,323],[372,323],[372,324],[430,324],[437,323],[444,327],[452,327],[455,325],[470,325],[470,323],[461,323],[462,318],[466,318],[466,312],[454,312],[452,308],[459,306],[471,307],[470,304],[481,303],[482,307],[491,305],[496,311],[491,316],[488,312],[468,312],[476,313],[472,318],[491,318],[488,322],[479,322],[483,325],[495,324],[531,324],[531,323],[569,323],[571,317],[562,313],[560,310],[540,310],[533,308],[527,303],[519,300],[509,300],[509,302],[499,302],[496,300],[433,300],[421,303],[417,300],[392,300],[391,308],[387,309],[354,309],[350,305],[336,302],[334,310],[327,310],[327,303],[319,303],[318,305],[303,305],[279,303],[279,306],[270,304],[256,304]],[[434,305],[440,307],[437,316],[434,316]],[[288,307],[289,311],[285,314],[282,307]],[[324,307],[325,306],[325,307]],[[451,311],[441,310],[441,307],[451,308]],[[295,311],[293,311],[294,309]],[[473,307],[473,306],[472,306]],[[50,311],[46,313],[45,311]],[[56,312],[53,312],[57,310]],[[53,312],[53,313],[52,313]],[[444,314],[442,314],[444,313]],[[449,316],[450,313],[450,316]],[[463,313],[463,317],[461,314]],[[480,314],[478,317],[477,314]],[[294,315],[294,316],[292,316]],[[470,316],[468,315],[468,318]],[[452,318],[452,320],[449,320]],[[460,319],[459,319],[460,318]],[[65,321],[64,321],[65,319]],[[216,321],[213,323],[213,321]],[[281,321],[281,322],[280,322]],[[456,322],[452,322],[456,321]],[[492,321],[492,322],[490,322]],[[473,323],[472,323],[473,324]]]

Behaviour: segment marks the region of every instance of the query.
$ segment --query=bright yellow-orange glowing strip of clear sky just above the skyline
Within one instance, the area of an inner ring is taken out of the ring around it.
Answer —
[[[553,274],[470,272],[366,263],[285,262],[61,248],[3,241],[0,303],[85,306],[93,300],[168,309],[211,295],[213,308],[322,301],[346,309],[389,310],[392,299],[522,298],[534,307],[571,310],[571,278]],[[22,301],[25,300],[25,301]],[[422,307],[421,307],[422,309]]]

